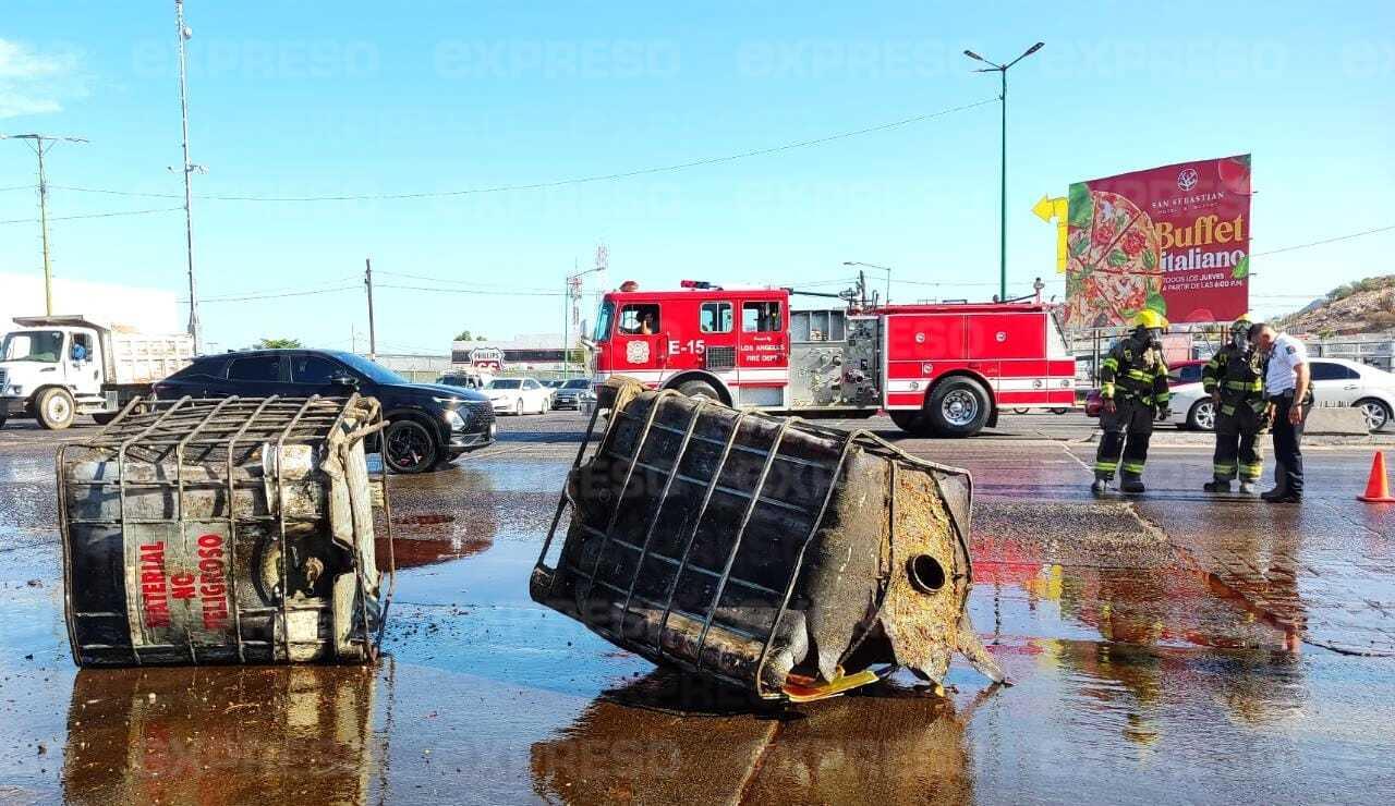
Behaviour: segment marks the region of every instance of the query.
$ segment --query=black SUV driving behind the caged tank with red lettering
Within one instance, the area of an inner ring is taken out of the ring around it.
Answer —
[[[338,350],[248,350],[199,356],[155,385],[160,400],[191,397],[345,397],[382,403],[382,459],[396,473],[424,473],[494,442],[494,407],[474,389],[412,383],[363,356]]]

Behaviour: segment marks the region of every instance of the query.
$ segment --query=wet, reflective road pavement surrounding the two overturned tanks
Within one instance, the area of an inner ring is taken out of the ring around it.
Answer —
[[[785,711],[529,600],[575,414],[505,418],[488,450],[393,480],[377,668],[77,672],[53,435],[13,424],[0,802],[1395,799],[1395,508],[1355,501],[1370,448],[1311,449],[1302,509],[1207,498],[1186,446],[1155,450],[1148,496],[1095,501],[1094,446],[1042,438],[1046,417],[901,442],[975,474],[970,607],[1016,685],[956,665],[946,697],[897,676]]]

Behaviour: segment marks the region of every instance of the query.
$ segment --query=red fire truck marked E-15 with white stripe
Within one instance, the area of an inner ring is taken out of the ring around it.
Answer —
[[[1076,404],[1076,360],[1039,303],[791,310],[788,289],[604,296],[596,381],[628,375],[739,407],[805,417],[886,410],[910,434],[970,436],[999,409]]]

